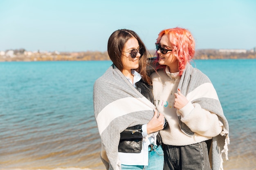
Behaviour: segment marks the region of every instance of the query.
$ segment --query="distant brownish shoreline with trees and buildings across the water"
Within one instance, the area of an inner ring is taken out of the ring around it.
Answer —
[[[155,51],[149,51],[149,57],[155,57]],[[255,59],[256,52],[235,53],[219,52],[217,49],[201,49],[195,52],[194,60],[213,59]],[[13,50],[12,55],[0,55],[0,62],[4,61],[90,61],[110,60],[107,52],[86,51],[86,52],[43,52],[28,53],[25,49]]]

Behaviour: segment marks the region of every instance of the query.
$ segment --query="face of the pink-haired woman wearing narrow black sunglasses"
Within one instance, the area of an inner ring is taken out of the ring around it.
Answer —
[[[159,42],[160,46],[164,49],[167,50],[172,50],[173,49],[173,45],[170,43],[170,41],[168,41],[168,37],[167,35],[163,35],[160,42]],[[160,49],[157,51],[157,54],[159,55],[159,60],[158,63],[160,65],[167,65],[170,68],[171,67],[176,67],[178,68],[178,60],[177,57],[175,57],[173,55],[173,51],[168,51],[166,54],[161,53]]]

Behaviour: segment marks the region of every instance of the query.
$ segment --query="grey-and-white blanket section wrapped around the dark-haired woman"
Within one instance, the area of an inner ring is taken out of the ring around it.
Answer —
[[[153,118],[155,106],[113,64],[94,83],[93,105],[101,137],[101,160],[107,170],[121,170],[120,132],[147,124]]]

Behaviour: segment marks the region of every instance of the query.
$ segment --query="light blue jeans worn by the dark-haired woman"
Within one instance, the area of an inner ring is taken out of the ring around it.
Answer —
[[[158,146],[152,151],[148,151],[148,166],[143,165],[121,165],[122,170],[163,170],[164,152],[162,146]]]

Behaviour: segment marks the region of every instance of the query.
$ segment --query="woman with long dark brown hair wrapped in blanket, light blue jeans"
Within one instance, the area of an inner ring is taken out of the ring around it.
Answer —
[[[94,84],[94,114],[107,170],[162,170],[158,131],[164,117],[153,105],[147,52],[139,36],[120,29],[108,40],[113,64]]]

